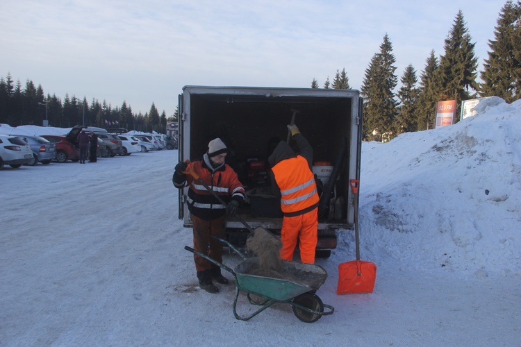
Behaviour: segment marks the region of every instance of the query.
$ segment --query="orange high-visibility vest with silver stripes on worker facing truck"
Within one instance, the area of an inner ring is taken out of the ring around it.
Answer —
[[[301,155],[281,160],[272,167],[276,184],[281,189],[281,210],[285,214],[304,211],[319,201],[315,176]],[[308,210],[306,210],[308,211]]]

